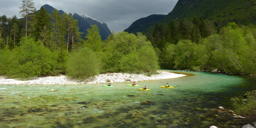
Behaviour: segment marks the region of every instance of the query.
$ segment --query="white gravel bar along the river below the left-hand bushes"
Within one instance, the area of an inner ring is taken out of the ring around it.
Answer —
[[[100,74],[89,78],[87,81],[72,80],[68,76],[40,76],[32,80],[22,81],[17,79],[9,79],[5,76],[0,76],[0,85],[56,85],[56,84],[86,84],[86,83],[117,83],[130,81],[158,80],[170,79],[186,76],[184,74],[172,73],[169,71],[157,71],[157,74],[146,76],[143,74],[128,74],[128,73],[108,73]]]

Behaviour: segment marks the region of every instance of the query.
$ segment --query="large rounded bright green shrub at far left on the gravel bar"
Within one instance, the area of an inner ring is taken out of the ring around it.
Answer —
[[[11,78],[48,75],[53,70],[52,52],[30,36],[22,38],[20,47],[12,50],[9,59],[11,68],[6,75]]]

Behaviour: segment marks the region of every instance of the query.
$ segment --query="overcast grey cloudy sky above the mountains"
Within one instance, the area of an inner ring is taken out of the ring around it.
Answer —
[[[178,0],[33,0],[35,8],[40,9],[45,4],[63,10],[64,12],[86,14],[108,25],[115,33],[128,28],[131,23],[152,14],[168,14],[173,10]],[[2,0],[0,16],[8,18],[16,15],[22,0]]]

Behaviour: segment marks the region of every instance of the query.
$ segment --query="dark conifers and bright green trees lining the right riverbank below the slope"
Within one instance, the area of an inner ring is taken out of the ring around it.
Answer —
[[[171,20],[147,35],[161,68],[256,75],[256,26],[228,23],[216,30],[211,20]]]

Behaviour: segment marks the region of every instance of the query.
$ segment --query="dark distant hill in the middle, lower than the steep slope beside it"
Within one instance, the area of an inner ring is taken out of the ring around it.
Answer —
[[[131,24],[130,27],[125,29],[125,32],[136,34],[137,32],[144,32],[148,27],[155,25],[155,23],[159,22],[166,15],[150,15],[148,17],[140,18]]]

